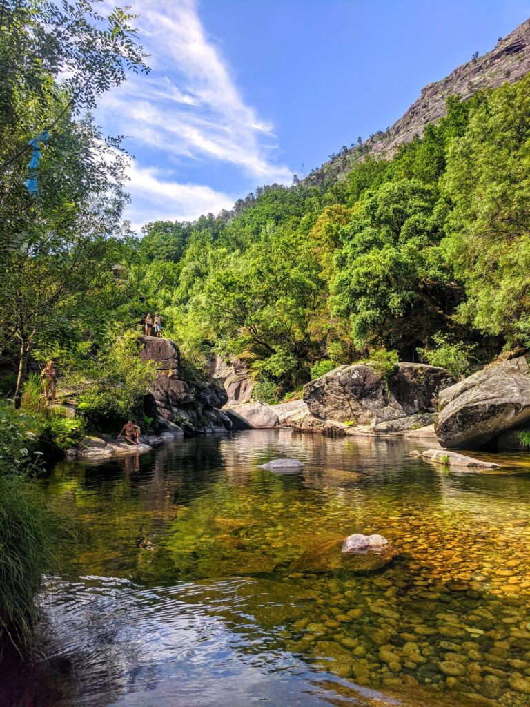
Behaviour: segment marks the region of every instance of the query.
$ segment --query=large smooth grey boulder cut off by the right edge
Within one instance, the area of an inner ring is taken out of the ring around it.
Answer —
[[[530,421],[526,358],[493,363],[440,394],[436,433],[442,447],[481,448]]]

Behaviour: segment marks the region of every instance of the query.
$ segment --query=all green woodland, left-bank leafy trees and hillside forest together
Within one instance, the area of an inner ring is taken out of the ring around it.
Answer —
[[[530,76],[449,98],[447,117],[391,160],[360,148],[340,180],[295,177],[230,212],[136,234],[122,218],[129,157],[90,114],[127,71],[148,70],[133,21],[88,0],[1,4],[0,392],[12,402],[0,407],[0,517],[18,513],[27,537],[0,528],[25,552],[1,559],[16,572],[0,621],[22,634],[52,535],[24,474],[43,448],[142,419],[147,312],[187,370],[242,358],[266,402],[341,363],[399,357],[461,377],[530,347]],[[49,359],[81,417],[40,409]]]

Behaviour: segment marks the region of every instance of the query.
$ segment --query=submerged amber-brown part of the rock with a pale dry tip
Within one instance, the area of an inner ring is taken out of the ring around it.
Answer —
[[[398,554],[391,544],[385,545],[378,551],[363,554],[344,553],[342,552],[343,542],[344,537],[340,535],[315,544],[293,562],[291,569],[300,572],[370,573],[387,566]]]

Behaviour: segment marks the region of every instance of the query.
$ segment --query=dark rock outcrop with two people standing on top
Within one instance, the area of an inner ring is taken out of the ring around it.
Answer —
[[[182,373],[180,353],[171,339],[139,337],[143,361],[154,361],[158,376],[146,395],[148,413],[157,430],[182,428],[186,434],[219,432],[231,428],[220,410],[227,402],[225,389],[215,380],[187,380]]]

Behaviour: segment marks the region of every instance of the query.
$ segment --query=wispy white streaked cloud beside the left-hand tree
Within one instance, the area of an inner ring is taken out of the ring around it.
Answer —
[[[105,127],[131,136],[133,151],[135,145],[141,148],[141,160],[133,174],[150,175],[156,182],[159,192],[150,182],[152,197],[163,194],[165,211],[179,218],[184,214],[178,204],[184,204],[178,194],[187,193],[192,199],[185,205],[186,218],[192,218],[192,212],[194,218],[204,210],[215,212],[221,202],[226,206],[226,194],[207,184],[178,183],[190,164],[230,165],[240,170],[250,185],[290,182],[291,170],[275,159],[273,126],[245,102],[230,66],[206,35],[196,1],[133,0],[131,5],[140,16],[136,25],[151,54],[153,71],[147,77],[134,76],[108,94],[100,111]],[[178,168],[178,174],[163,177],[157,171],[161,167]],[[145,183],[138,180],[131,184],[133,209],[137,210],[136,201],[142,194],[143,201],[147,199]],[[209,206],[208,194],[212,197]],[[154,206],[160,206],[158,201]],[[151,211],[148,218],[153,217]]]

